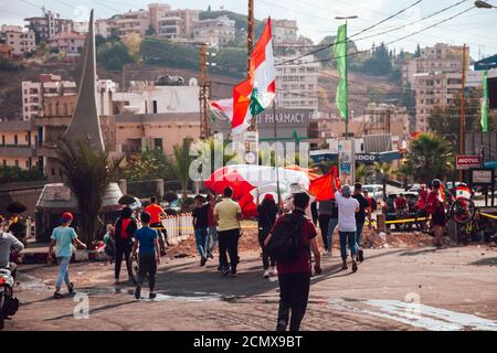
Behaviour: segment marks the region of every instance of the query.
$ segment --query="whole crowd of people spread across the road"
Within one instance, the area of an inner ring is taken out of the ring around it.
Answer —
[[[286,200],[278,200],[271,193],[265,194],[257,206],[258,244],[261,246],[263,277],[278,277],[279,310],[277,330],[289,329],[296,331],[305,315],[310,278],[321,272],[321,254],[317,236],[320,231],[325,254],[332,255],[334,234],[338,228],[341,269],[349,266],[358,271],[359,264],[364,261],[362,231],[364,224],[371,227],[372,213],[377,210],[377,201],[362,190],[360,183],[337,188],[332,180],[335,196],[330,200],[316,202],[314,196],[300,184],[290,185],[290,195]],[[242,210],[232,199],[233,190],[226,188],[222,195],[209,193],[207,197],[197,195],[192,210],[192,227],[194,240],[203,267],[209,260],[215,260],[214,250],[219,247],[218,270],[222,277],[237,276],[239,239],[242,235]],[[434,231],[434,245],[440,246],[446,226],[444,190],[440,180],[434,180],[430,189],[421,186],[417,196],[417,208],[429,217],[430,226]],[[395,212],[403,216],[408,210],[408,200],[400,194],[393,201]],[[141,297],[141,286],[146,278],[149,285],[149,298],[156,298],[155,284],[157,266],[161,256],[166,255],[168,237],[162,220],[165,210],[155,196],[150,204],[139,215],[126,206],[120,211],[117,221],[107,225],[104,237],[106,248],[112,248],[112,259],[115,269],[115,285],[120,285],[121,263],[125,260],[128,284],[135,284],[135,297]],[[137,221],[140,220],[140,222]],[[3,222],[0,218],[0,224]],[[64,213],[61,225],[53,229],[49,260],[54,257],[59,264],[59,276],[55,284],[54,298],[61,299],[62,285],[65,282],[70,295],[74,295],[74,286],[70,279],[68,266],[72,246],[85,248],[85,244],[77,239],[77,234],[71,224],[73,215]],[[10,228],[15,226],[10,222]],[[2,227],[3,228],[3,227]],[[13,246],[22,249],[19,240],[11,242],[13,236],[9,232],[0,232],[0,267],[11,266],[8,261],[8,250]],[[22,233],[22,232],[21,232]],[[9,237],[10,236],[10,237]],[[9,240],[10,239],[10,240]],[[11,242],[11,243],[8,243]],[[4,245],[8,246],[8,250]],[[56,250],[54,250],[56,248]],[[110,254],[109,254],[110,255]],[[134,274],[133,259],[138,261],[138,274]],[[314,263],[314,266],[313,266]]]

